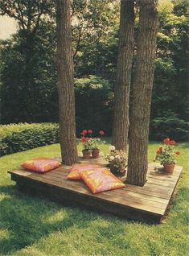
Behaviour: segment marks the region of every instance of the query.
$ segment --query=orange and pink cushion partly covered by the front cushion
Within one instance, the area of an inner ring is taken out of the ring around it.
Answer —
[[[88,163],[76,163],[72,165],[72,169],[68,174],[67,178],[71,180],[81,180],[80,172],[86,170],[93,170],[95,168],[101,167],[98,164],[88,164]]]

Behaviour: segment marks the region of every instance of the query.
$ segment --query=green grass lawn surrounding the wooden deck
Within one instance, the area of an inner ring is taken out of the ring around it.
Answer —
[[[158,143],[150,142],[149,162]],[[101,146],[108,151],[109,145]],[[79,147],[80,150],[80,147]],[[188,144],[178,146],[184,166],[179,192],[162,225],[65,207],[18,192],[8,170],[38,156],[60,156],[58,144],[0,158],[0,255],[187,255]]]

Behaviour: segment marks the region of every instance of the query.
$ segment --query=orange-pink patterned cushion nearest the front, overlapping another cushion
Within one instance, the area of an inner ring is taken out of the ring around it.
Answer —
[[[103,171],[82,171],[80,176],[94,194],[116,188],[125,188],[125,184],[117,179],[107,168],[104,168]]]

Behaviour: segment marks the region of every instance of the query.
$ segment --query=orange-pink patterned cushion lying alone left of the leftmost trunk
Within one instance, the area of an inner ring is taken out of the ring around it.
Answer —
[[[46,171],[51,171],[52,169],[60,167],[60,165],[61,163],[54,159],[48,159],[43,157],[43,158],[33,159],[30,161],[24,162],[21,164],[21,167],[31,171],[44,173]]]

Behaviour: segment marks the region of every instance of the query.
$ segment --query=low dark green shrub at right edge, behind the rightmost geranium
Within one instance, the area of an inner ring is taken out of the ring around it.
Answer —
[[[186,141],[189,138],[189,122],[175,117],[153,119],[150,123],[150,138],[162,140],[166,137]]]

